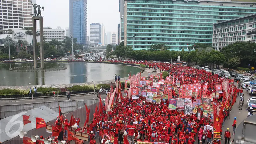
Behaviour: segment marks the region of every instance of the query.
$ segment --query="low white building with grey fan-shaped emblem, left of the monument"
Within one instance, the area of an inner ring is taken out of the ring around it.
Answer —
[[[8,37],[8,35],[10,36],[10,38],[12,38],[12,40],[14,40],[16,42],[18,42],[18,40],[24,40],[24,41],[28,41],[28,44],[32,44],[33,45],[33,35],[26,34],[27,30],[24,30],[24,29],[12,29],[12,31],[13,31],[12,34],[0,34],[0,46],[4,46],[3,39]],[[0,32],[1,33],[8,33],[9,29],[0,30]],[[40,36],[36,36],[36,40],[37,40],[37,42],[40,42]],[[20,52],[20,48],[17,49],[17,52]]]

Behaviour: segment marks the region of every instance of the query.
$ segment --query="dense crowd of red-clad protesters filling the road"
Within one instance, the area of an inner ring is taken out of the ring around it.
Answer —
[[[112,62],[118,61],[113,60]],[[126,62],[129,63],[130,61]],[[171,66],[168,63],[149,63],[147,61],[137,63],[163,71],[169,71]],[[212,75],[205,70],[178,65],[172,65],[170,75],[183,75],[183,84],[193,84],[194,81],[198,84],[208,83],[206,95],[215,93],[215,85],[221,84],[224,80],[222,77]],[[176,98],[179,95],[173,92],[172,97]],[[213,99],[213,103],[220,104],[222,99],[225,98],[220,93],[218,98]],[[114,137],[114,144],[122,144],[124,131],[127,132],[129,144],[133,144],[134,140],[169,144],[208,144],[213,140],[213,122],[210,121],[210,117],[204,117],[200,110],[198,110],[199,119],[195,114],[190,116],[184,115],[184,111],[169,110],[168,102],[165,101],[161,101],[161,104],[146,102],[145,97],[140,99],[122,97],[121,102],[116,101],[108,114],[106,114],[105,108],[103,110],[103,113],[96,115],[91,123],[77,129],[77,131],[89,133],[90,144],[91,141],[92,143],[95,141],[94,138],[98,138],[101,142],[104,133]],[[229,113],[230,109],[223,110],[223,125]],[[206,125],[211,128],[205,129],[204,126]],[[64,129],[67,129],[66,126],[68,124],[65,124]],[[135,136],[133,136],[134,133]],[[135,138],[137,135],[139,135],[138,139]],[[228,132],[225,132],[225,137],[227,135]],[[228,135],[228,137],[230,136]],[[213,143],[220,144],[220,140],[213,140]]]

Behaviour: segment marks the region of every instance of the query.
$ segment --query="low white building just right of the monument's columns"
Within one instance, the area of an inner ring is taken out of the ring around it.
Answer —
[[[65,39],[65,30],[64,29],[52,29],[51,27],[43,28],[45,41],[49,42],[52,39],[57,39],[58,41],[64,41]],[[39,29],[37,29],[39,33]]]

